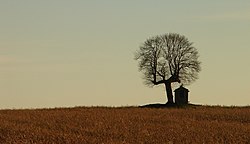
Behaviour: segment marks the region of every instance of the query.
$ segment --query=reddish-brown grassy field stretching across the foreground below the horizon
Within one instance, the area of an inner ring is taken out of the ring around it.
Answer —
[[[0,110],[0,143],[250,143],[250,107]]]

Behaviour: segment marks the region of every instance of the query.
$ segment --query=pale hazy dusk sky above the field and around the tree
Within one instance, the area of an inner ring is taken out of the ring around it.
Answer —
[[[199,52],[191,103],[250,104],[248,0],[2,0],[0,20],[1,109],[165,103],[134,60],[165,33]]]

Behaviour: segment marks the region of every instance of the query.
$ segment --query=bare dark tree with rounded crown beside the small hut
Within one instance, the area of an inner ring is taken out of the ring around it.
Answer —
[[[199,55],[192,45],[185,36],[169,33],[147,39],[135,53],[145,84],[164,84],[169,104],[173,103],[172,83],[190,84],[198,78]]]

